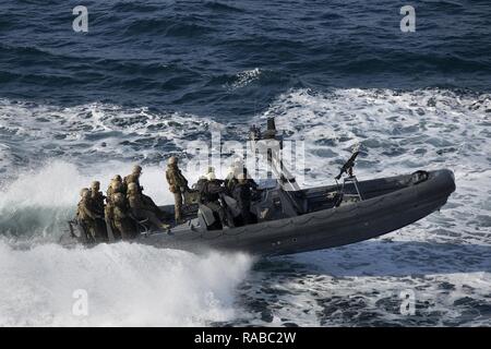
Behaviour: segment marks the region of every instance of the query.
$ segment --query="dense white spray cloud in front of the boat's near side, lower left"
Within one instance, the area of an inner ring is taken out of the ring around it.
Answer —
[[[117,243],[27,251],[0,242],[0,326],[196,326],[236,316],[251,258]],[[72,312],[87,292],[87,316]]]

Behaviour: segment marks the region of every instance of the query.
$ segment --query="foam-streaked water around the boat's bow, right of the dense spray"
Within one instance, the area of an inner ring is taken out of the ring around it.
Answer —
[[[331,182],[360,143],[359,179],[450,168],[457,189],[440,212],[382,238],[277,258],[279,272],[250,281],[283,294],[258,297],[272,304],[272,321],[254,323],[491,324],[490,111],[489,95],[295,89],[258,116],[276,117],[277,129],[306,142],[307,185]],[[285,276],[285,265],[300,269]],[[414,316],[399,312],[406,290],[415,292]]]

